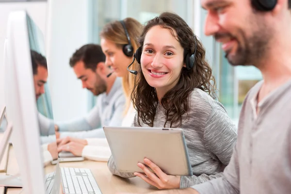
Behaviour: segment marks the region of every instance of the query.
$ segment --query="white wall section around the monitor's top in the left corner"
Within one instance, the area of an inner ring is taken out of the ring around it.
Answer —
[[[10,11],[27,10],[42,32],[45,32],[47,2],[2,2],[0,3],[0,109],[5,104],[4,99],[4,65],[3,49],[6,37],[7,20]]]

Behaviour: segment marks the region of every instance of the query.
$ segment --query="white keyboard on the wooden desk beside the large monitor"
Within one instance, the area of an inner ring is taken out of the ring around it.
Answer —
[[[90,169],[61,168],[64,194],[102,194]]]

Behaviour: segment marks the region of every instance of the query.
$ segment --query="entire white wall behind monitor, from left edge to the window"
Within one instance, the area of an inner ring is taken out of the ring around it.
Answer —
[[[89,4],[90,0],[0,3],[0,109],[5,102],[3,47],[8,15],[12,10],[26,9],[46,39],[54,119],[72,119],[88,112],[90,94],[82,89],[81,81],[69,66],[69,58],[76,49],[89,42],[92,19],[89,18]]]

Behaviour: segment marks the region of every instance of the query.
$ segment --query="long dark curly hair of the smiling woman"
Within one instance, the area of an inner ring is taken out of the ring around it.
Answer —
[[[184,49],[185,56],[187,53],[194,53],[196,39],[197,50],[195,53],[194,68],[188,70],[182,67],[178,83],[161,98],[161,105],[165,109],[166,121],[164,127],[167,122],[171,123],[171,128],[173,124],[175,124],[175,127],[178,127],[181,125],[182,115],[187,114],[189,110],[188,97],[194,88],[199,88],[215,98],[215,80],[212,76],[211,67],[205,59],[205,49],[201,42],[194,36],[193,31],[187,23],[177,14],[164,12],[160,16],[149,20],[144,26],[139,39],[141,47],[144,45],[146,33],[157,25],[169,29],[173,36],[175,36],[174,32],[176,31],[178,41]],[[139,126],[141,126],[142,121],[148,126],[153,127],[159,100],[155,88],[146,82],[141,65],[139,65],[137,71],[140,76],[135,79],[131,100],[134,108],[137,110]]]

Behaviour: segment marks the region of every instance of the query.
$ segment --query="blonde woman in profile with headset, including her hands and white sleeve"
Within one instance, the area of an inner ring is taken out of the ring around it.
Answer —
[[[132,63],[133,53],[139,47],[136,38],[141,35],[141,32],[142,25],[137,20],[128,17],[106,24],[100,33],[101,48],[106,56],[105,65],[111,67],[114,76],[122,78],[122,87],[126,97],[122,126],[131,126],[136,113],[130,101],[135,75],[130,74],[127,67]],[[137,65],[133,62],[129,69],[136,69]],[[59,141],[58,147],[59,151],[70,151],[76,156],[83,156],[89,160],[108,161],[111,156],[105,138],[66,137]]]

